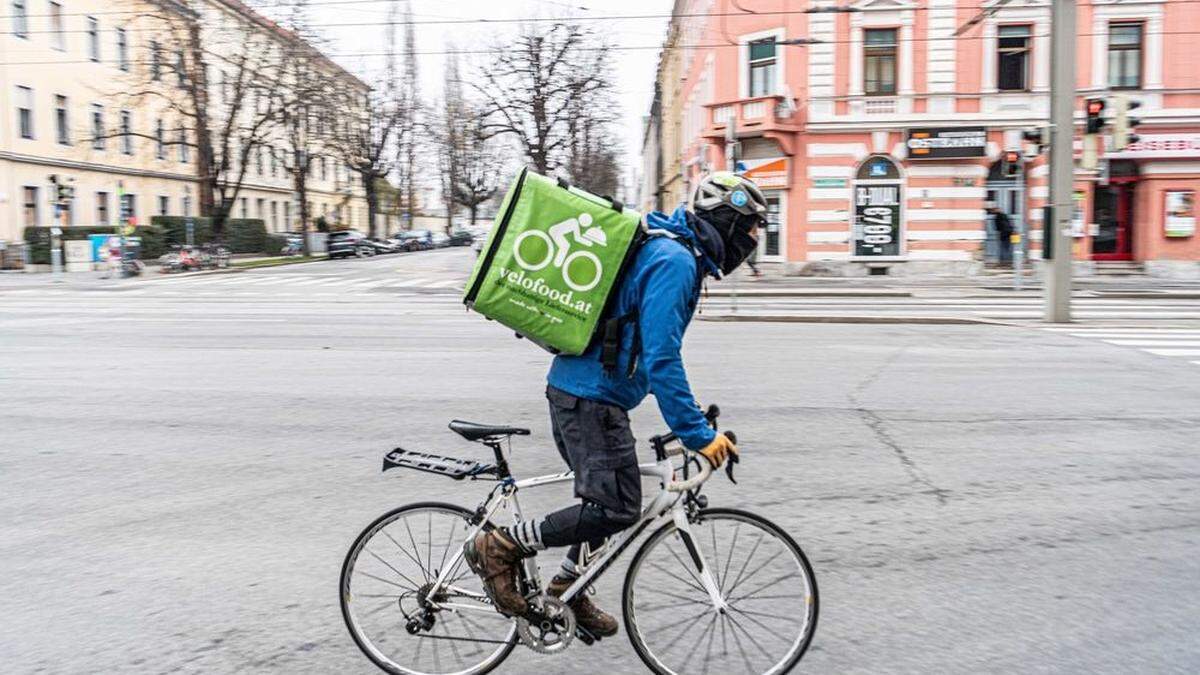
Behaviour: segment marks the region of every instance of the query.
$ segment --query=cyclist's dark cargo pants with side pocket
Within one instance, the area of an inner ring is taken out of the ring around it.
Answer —
[[[546,388],[554,444],[575,471],[575,496],[582,503],[545,518],[546,546],[570,545],[578,562],[580,544],[595,549],[604,538],[629,527],[642,513],[642,480],[629,413],[622,408]]]

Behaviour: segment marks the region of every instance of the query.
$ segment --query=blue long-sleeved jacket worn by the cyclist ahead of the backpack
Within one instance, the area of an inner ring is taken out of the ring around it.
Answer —
[[[636,310],[642,351],[637,369],[626,377],[634,346],[632,327],[622,334],[620,357],[613,374],[606,374],[600,363],[600,345],[577,357],[554,357],[547,382],[582,399],[601,401],[631,410],[654,394],[662,419],[690,449],[700,449],[713,441],[715,432],[691,394],[684,372],[680,348],[683,334],[691,322],[700,299],[701,282],[715,265],[703,249],[695,246],[690,216],[683,207],[670,216],[653,213],[647,225],[676,235],[652,237],[634,257],[625,271],[616,307],[611,316],[625,316]],[[707,223],[706,223],[707,225]]]

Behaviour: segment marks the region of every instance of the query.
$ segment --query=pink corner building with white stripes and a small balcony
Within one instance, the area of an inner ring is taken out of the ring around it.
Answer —
[[[1000,253],[985,207],[1026,233],[1037,259],[1048,167],[1022,131],[1046,124],[1050,4],[1014,0],[959,38],[990,0],[680,0],[678,157],[686,184],[726,167],[726,138],[772,199],[761,255],[794,270],[970,274]],[[751,13],[754,12],[754,13]],[[1141,141],[1076,171],[1080,261],[1200,275],[1200,4],[1079,2],[1084,98],[1141,103]],[[815,38],[817,44],[785,44]],[[671,72],[671,68],[660,68]],[[1111,106],[1110,106],[1111,108]],[[1076,127],[1076,133],[1080,127]],[[655,144],[658,145],[658,144]],[[667,193],[660,190],[659,196]],[[673,204],[658,204],[662,208]]]

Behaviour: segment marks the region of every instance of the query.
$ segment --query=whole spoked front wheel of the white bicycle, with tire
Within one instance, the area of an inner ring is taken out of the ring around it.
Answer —
[[[634,651],[660,675],[790,671],[817,625],[804,551],[738,509],[701,510],[688,530],[664,525],[630,562],[622,610]]]

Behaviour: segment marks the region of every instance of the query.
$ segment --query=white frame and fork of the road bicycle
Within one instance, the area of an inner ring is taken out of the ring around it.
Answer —
[[[683,449],[679,448],[677,452],[670,454],[679,454]],[[670,456],[660,461],[640,464],[637,470],[642,476],[649,476],[658,478],[662,489],[654,496],[649,504],[642,509],[642,516],[631,525],[630,527],[608,537],[599,557],[594,561],[587,561],[587,551],[584,549],[583,558],[587,562],[583,573],[574,584],[563,593],[560,599],[563,602],[570,602],[575,596],[587,589],[594,579],[607,569],[608,565],[617,558],[632,542],[649,528],[650,525],[658,522],[665,522],[667,518],[674,521],[676,530],[683,537],[684,543],[688,548],[688,552],[691,556],[692,563],[697,567],[697,577],[701,584],[703,584],[704,590],[708,592],[709,598],[713,601],[713,611],[720,613],[726,609],[725,599],[721,597],[721,592],[716,585],[716,580],[713,578],[712,572],[708,566],[704,565],[704,556],[700,549],[700,542],[696,537],[691,536],[690,522],[688,521],[688,509],[682,502],[683,492],[695,488],[696,485],[703,483],[708,479],[712,473],[712,468],[708,461],[704,459],[698,460],[700,473],[686,482],[674,482],[674,466],[671,464]],[[517,494],[527,488],[539,488],[542,485],[553,485],[556,483],[566,483],[575,479],[575,472],[568,471],[563,473],[553,473],[550,476],[539,476],[536,478],[527,478],[524,480],[511,480],[506,486],[496,490],[488,497],[487,502],[484,504],[485,516],[479,525],[472,526],[470,531],[467,533],[467,542],[475,538],[475,534],[484,527],[485,522],[491,521],[496,512],[499,510],[505,503],[510,503],[512,507],[514,524],[521,522],[523,520],[523,514],[521,512],[521,503],[517,498]],[[472,597],[481,603],[490,604],[491,601],[484,593],[476,593],[474,591],[468,591],[466,589],[458,589],[456,586],[448,586],[448,578],[458,567],[462,560],[462,548],[455,552],[454,557],[450,560],[439,573],[438,579],[433,587],[427,592],[427,597],[433,598],[438,595],[438,591],[443,587],[454,591],[455,595]],[[526,574],[527,578],[541,587],[541,579],[538,574],[538,562],[536,556],[526,558]],[[431,603],[438,609],[449,609],[451,611],[468,610],[468,611],[494,611],[493,609],[479,604],[461,604],[451,602],[432,602]]]

